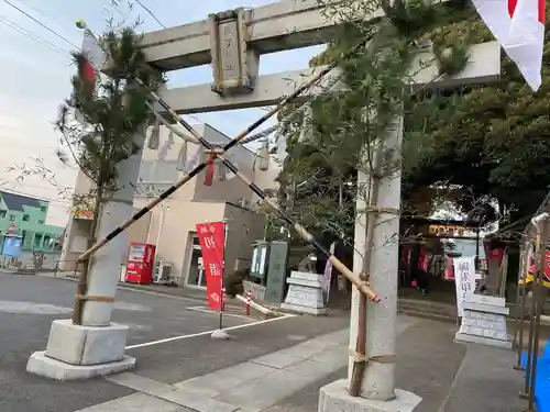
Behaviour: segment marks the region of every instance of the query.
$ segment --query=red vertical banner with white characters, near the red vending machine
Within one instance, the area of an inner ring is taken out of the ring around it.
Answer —
[[[222,305],[226,227],[223,222],[198,223],[196,227],[207,277],[208,308],[219,311]]]

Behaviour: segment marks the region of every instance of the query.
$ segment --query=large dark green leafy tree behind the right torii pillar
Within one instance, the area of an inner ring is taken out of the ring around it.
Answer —
[[[461,67],[461,52],[466,44],[493,40],[475,10],[463,1],[433,7],[429,2],[414,2],[410,8],[415,11],[409,10],[407,15],[404,7],[397,3],[393,20],[409,34],[409,38],[418,40],[416,44],[431,41],[442,69],[448,64],[451,69]],[[420,15],[418,22],[422,24],[411,23]],[[351,38],[358,32],[363,33],[359,23],[350,25],[351,29],[345,27],[339,41],[330,44],[327,52],[311,59],[311,66],[342,56],[344,44],[352,43]],[[348,41],[342,42],[342,38]],[[447,58],[442,49],[450,45],[457,53]],[[464,212],[480,202],[496,201],[510,221],[535,212],[550,185],[550,141],[546,138],[550,109],[547,98],[550,86],[546,81],[550,74],[546,67],[549,58],[547,44],[543,81],[537,93],[525,85],[515,65],[504,58],[498,83],[463,87],[450,92],[427,92],[405,100],[404,215],[426,215],[447,201]],[[304,189],[293,199],[297,218],[304,215],[317,225],[326,226],[326,216],[333,216],[333,211],[340,210],[336,193],[342,176],[354,180],[353,170],[358,169],[359,163],[353,159],[353,154],[363,143],[353,133],[360,130],[361,122],[352,122],[352,127],[345,127],[342,114],[345,110],[356,111],[369,100],[369,97],[361,96],[361,90],[360,87],[352,92],[354,97],[346,93],[342,99],[339,96],[334,99],[337,102],[317,100],[314,103],[318,113],[331,113],[332,125],[327,127],[327,115],[318,114],[316,119],[322,119],[324,133],[317,134],[312,142],[299,140],[304,130],[301,113],[284,124],[289,156],[280,175],[283,186],[292,187],[293,181],[299,183],[306,177],[316,176],[315,170],[323,170],[319,176],[324,179],[324,190],[311,186],[309,191]],[[297,109],[297,105],[287,108],[279,120]],[[348,135],[342,133],[345,130]],[[338,222],[340,232],[351,238],[355,211],[350,199],[353,199],[356,187],[345,187],[344,190],[349,192],[348,207],[342,210],[342,216],[332,219]],[[334,224],[330,226],[324,230],[334,229]]]

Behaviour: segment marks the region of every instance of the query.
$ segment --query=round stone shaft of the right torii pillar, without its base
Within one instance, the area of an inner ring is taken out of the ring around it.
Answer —
[[[367,268],[370,282],[382,298],[378,303],[367,302],[366,347],[367,366],[361,396],[369,399],[391,400],[395,398],[395,335],[397,319],[397,279],[399,255],[399,214],[402,170],[400,146],[403,118],[399,115],[383,142],[383,151],[393,151],[389,168],[380,180],[378,208],[371,250],[371,267]],[[398,167],[395,167],[398,165]],[[377,167],[377,165],[375,165]],[[366,177],[369,179],[369,177]],[[370,192],[371,192],[371,188]],[[362,225],[365,227],[365,225]],[[362,250],[366,253],[366,227],[361,233]],[[358,246],[358,244],[355,244]],[[355,246],[355,247],[356,247]],[[355,269],[355,260],[353,263]],[[362,259],[358,270],[362,270]],[[359,321],[359,291],[353,288],[350,320],[350,352],[355,350]],[[380,361],[376,360],[380,358]],[[348,380],[351,379],[354,357],[348,363]]]

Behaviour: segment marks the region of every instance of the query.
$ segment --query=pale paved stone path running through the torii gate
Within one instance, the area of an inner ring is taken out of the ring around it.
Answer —
[[[397,332],[400,334],[418,322],[400,318]],[[154,408],[172,411],[170,407],[200,412],[260,412],[308,388],[319,378],[342,369],[348,363],[348,329],[340,330],[174,385],[145,378],[140,370],[108,379],[148,394],[150,398],[141,398],[148,408],[142,408],[141,412],[153,412]],[[136,398],[124,397],[102,408],[131,411],[131,405],[138,402]],[[164,403],[160,403],[158,399]],[[96,405],[81,412],[99,410],[100,405]]]

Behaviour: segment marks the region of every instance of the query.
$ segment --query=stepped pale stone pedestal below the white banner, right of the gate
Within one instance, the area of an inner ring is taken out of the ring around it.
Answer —
[[[455,341],[512,348],[506,330],[509,309],[504,298],[471,294],[463,303],[463,309],[464,315]]]

